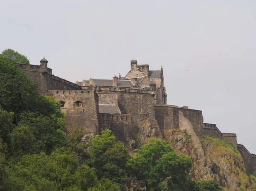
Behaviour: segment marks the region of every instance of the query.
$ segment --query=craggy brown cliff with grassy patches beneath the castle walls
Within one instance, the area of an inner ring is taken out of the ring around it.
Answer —
[[[182,117],[182,116],[181,116]],[[150,138],[165,139],[177,154],[184,154],[192,159],[190,175],[195,181],[215,180],[224,190],[256,189],[256,179],[246,174],[243,160],[239,151],[232,144],[214,137],[200,139],[190,128],[189,122],[181,120],[180,128],[169,129],[164,132],[164,138],[153,122],[145,120],[140,123],[137,139],[140,144],[148,143]],[[135,145],[135,141],[131,142]],[[127,191],[144,189],[144,182],[130,180]]]

